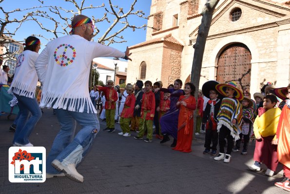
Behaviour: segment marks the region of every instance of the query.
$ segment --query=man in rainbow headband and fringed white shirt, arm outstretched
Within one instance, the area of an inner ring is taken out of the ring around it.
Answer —
[[[121,52],[91,41],[94,26],[87,16],[75,16],[71,27],[71,35],[47,43],[36,70],[43,83],[40,107],[54,108],[61,126],[47,156],[46,177],[66,175],[83,182],[76,167],[100,129],[88,90],[91,61],[97,57],[130,59],[130,54],[128,47]],[[76,136],[75,121],[82,127]]]

